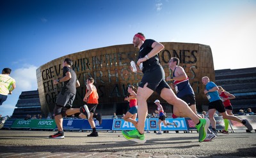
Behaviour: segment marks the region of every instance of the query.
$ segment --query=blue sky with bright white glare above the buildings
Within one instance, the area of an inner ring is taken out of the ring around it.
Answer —
[[[22,91],[36,90],[36,69],[64,55],[131,44],[134,34],[159,42],[200,43],[214,69],[256,66],[255,0],[1,0],[0,69],[17,88],[0,106],[12,115]]]

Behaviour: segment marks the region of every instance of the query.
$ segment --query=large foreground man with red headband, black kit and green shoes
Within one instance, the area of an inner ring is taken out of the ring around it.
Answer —
[[[145,143],[145,120],[147,118],[147,99],[156,91],[165,101],[173,105],[173,112],[180,117],[189,117],[196,124],[199,141],[207,136],[209,120],[199,119],[184,101],[179,99],[165,81],[164,69],[159,63],[158,54],[164,46],[154,39],[146,39],[144,34],[135,34],[132,40],[134,47],[139,48],[137,65],[143,64],[143,77],[137,90],[138,127],[133,131],[122,131],[125,139]],[[132,69],[132,68],[131,68]]]

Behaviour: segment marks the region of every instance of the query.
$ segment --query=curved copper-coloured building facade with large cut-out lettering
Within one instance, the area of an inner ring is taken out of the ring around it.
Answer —
[[[208,45],[195,43],[163,42],[162,44],[164,50],[159,53],[159,60],[165,75],[172,75],[172,71],[168,69],[170,57],[179,57],[180,66],[185,69],[195,90],[196,106],[200,111],[202,104],[207,104],[201,78],[209,76],[211,81],[214,81],[215,76],[211,48]],[[138,49],[132,44],[115,45],[65,55],[40,66],[36,70],[36,77],[42,112],[48,115],[54,108],[61,85],[60,83],[53,85],[52,80],[62,76],[62,62],[69,57],[74,62],[72,68],[76,71],[81,83],[81,87],[77,88],[74,108],[84,104],[86,79],[92,76],[99,93],[99,105],[96,111],[102,115],[112,115],[114,112],[118,115],[126,113],[129,109],[129,104],[124,101],[124,97],[127,96],[127,85],[138,87],[142,77],[141,73],[132,73],[129,68],[132,60],[137,61],[137,55]],[[158,94],[154,93],[148,99],[148,113],[154,112],[156,108],[152,104],[154,99],[160,99]],[[164,103],[162,99],[160,101],[166,107],[166,113],[170,113],[171,106]]]

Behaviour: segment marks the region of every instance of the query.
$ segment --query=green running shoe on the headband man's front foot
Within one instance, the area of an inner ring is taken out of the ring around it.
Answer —
[[[122,134],[126,140],[135,141],[136,143],[145,143],[145,134],[140,134],[137,129],[132,131],[122,131]]]

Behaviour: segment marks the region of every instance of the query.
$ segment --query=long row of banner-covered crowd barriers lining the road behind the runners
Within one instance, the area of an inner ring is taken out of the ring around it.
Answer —
[[[252,124],[253,129],[256,129],[256,115],[239,115],[237,116],[241,119],[247,119],[250,124]],[[222,117],[214,117],[216,120],[216,129],[224,129],[224,121]],[[102,124],[99,124],[98,120],[95,121],[95,126],[97,131],[122,131],[122,130],[132,130],[135,127],[131,122],[126,122],[123,119],[102,119]],[[158,118],[150,118],[145,121],[145,131],[158,131]],[[161,123],[162,131],[196,131],[195,123],[189,118],[166,118],[166,122],[175,122],[177,127],[173,125],[164,126]],[[245,130],[246,127],[239,122],[229,120],[229,130],[234,132],[234,130]],[[211,127],[210,127],[211,128]],[[4,123],[3,129],[57,129],[56,123],[53,119],[8,119]],[[88,120],[86,119],[63,119],[63,129],[64,130],[79,130],[86,131],[92,130]]]

